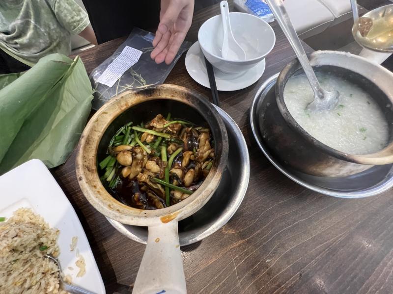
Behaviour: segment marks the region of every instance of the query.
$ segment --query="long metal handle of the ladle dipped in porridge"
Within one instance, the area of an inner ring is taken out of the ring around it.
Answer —
[[[273,15],[276,17],[276,20],[279,23],[286,38],[291,44],[292,49],[295,51],[295,54],[298,57],[299,62],[302,65],[303,70],[306,73],[306,76],[312,87],[312,91],[314,91],[315,96],[323,98],[323,90],[318,82],[318,79],[316,78],[314,71],[312,70],[309,59],[307,58],[302,43],[300,42],[295,28],[289,19],[288,13],[282,4],[282,0],[266,0],[266,2],[269,5],[270,10],[273,12]]]

